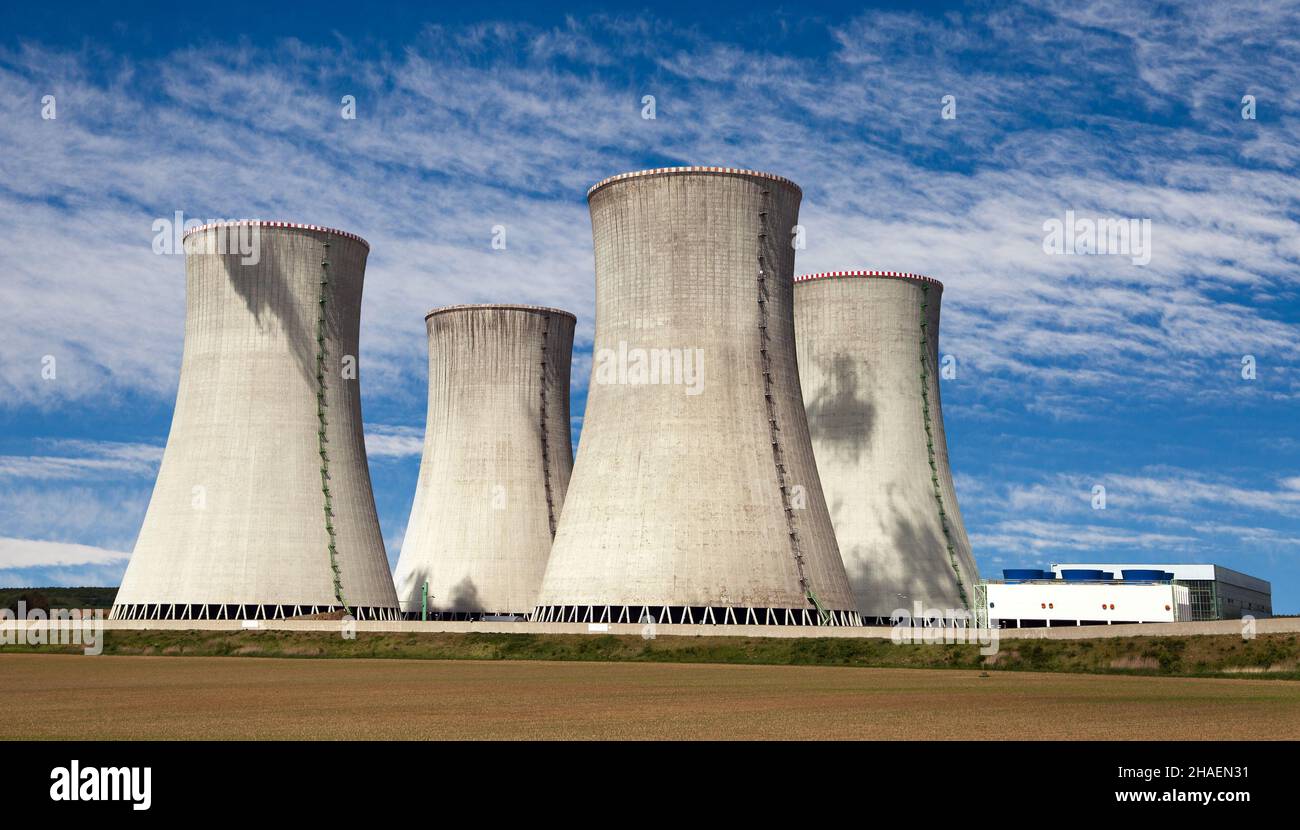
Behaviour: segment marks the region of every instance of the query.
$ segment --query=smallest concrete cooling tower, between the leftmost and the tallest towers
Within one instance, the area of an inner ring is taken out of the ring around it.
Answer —
[[[407,617],[526,615],[537,605],[573,470],[573,324],[534,306],[425,317],[429,415],[396,567]]]

